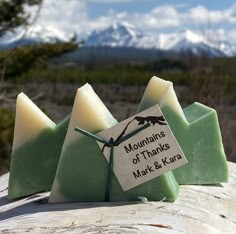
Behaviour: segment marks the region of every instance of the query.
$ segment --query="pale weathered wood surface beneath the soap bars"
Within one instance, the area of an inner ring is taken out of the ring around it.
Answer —
[[[181,186],[174,203],[48,204],[48,193],[7,200],[0,177],[0,233],[236,233],[236,164],[219,186]]]

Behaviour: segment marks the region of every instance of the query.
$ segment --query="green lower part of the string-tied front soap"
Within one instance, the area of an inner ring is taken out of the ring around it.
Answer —
[[[60,196],[69,202],[105,201],[108,162],[96,141],[81,136],[68,145],[60,158],[55,179]],[[166,173],[124,192],[114,174],[110,201],[135,201],[138,196],[148,200],[174,201],[179,185],[172,173]],[[54,192],[52,190],[52,192]]]

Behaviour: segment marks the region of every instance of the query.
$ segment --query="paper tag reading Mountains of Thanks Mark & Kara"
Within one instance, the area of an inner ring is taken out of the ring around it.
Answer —
[[[148,123],[146,129],[114,146],[113,171],[124,191],[187,163],[158,105],[97,135],[117,140]],[[97,143],[109,162],[111,148]]]

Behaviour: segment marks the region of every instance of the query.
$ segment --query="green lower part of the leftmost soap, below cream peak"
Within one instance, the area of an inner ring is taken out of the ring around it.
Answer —
[[[36,139],[13,152],[8,185],[9,199],[51,189],[69,120],[70,116],[55,129],[45,129]]]

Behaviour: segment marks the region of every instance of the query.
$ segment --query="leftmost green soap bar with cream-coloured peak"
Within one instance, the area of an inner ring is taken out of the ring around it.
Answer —
[[[9,199],[51,189],[69,119],[55,125],[26,95],[18,95]]]

